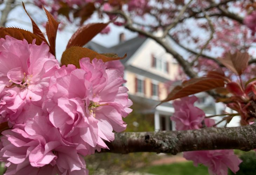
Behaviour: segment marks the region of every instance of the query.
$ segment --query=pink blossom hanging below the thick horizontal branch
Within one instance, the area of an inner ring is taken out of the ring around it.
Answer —
[[[195,166],[201,163],[207,166],[210,175],[227,175],[228,168],[236,173],[242,162],[233,150],[228,149],[184,152],[183,157],[187,160],[193,160]]]

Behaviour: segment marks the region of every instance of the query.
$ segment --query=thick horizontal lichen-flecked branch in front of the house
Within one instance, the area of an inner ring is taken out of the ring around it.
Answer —
[[[177,154],[184,151],[256,148],[256,125],[230,128],[202,128],[187,131],[123,132],[116,133],[109,149],[101,152],[156,152]]]

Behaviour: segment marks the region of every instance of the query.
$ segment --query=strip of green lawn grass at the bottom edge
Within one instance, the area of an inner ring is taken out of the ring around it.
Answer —
[[[157,165],[140,168],[139,172],[156,175],[208,175],[207,167],[199,165],[194,167],[192,161],[172,163],[170,165]]]

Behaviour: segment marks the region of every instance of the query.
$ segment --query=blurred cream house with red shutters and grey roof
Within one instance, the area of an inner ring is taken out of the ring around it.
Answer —
[[[154,116],[155,130],[175,130],[170,121],[174,112],[171,102],[157,104],[167,97],[168,90],[165,83],[174,80],[178,75],[178,64],[172,55],[168,54],[158,43],[150,38],[137,36],[130,40],[120,34],[119,44],[106,48],[95,42],[89,42],[86,47],[99,53],[116,53],[127,58],[121,62],[125,67],[124,86],[129,89],[129,98],[134,105],[143,104],[141,113]],[[197,94],[198,105],[206,113],[215,114],[215,103],[207,93]]]

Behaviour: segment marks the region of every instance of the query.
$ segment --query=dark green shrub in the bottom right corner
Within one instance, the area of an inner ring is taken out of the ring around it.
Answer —
[[[237,151],[236,151],[237,153]],[[241,154],[241,152],[238,152]],[[255,175],[256,172],[256,155],[254,151],[250,152],[244,152],[240,159],[243,160],[243,162],[240,164],[240,169],[238,172],[236,172],[236,175]],[[234,175],[233,172],[229,170],[229,175]]]

